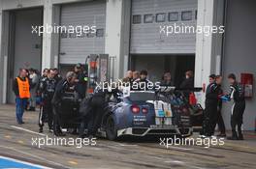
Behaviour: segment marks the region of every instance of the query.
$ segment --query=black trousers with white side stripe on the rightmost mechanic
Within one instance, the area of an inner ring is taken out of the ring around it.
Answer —
[[[238,132],[241,134],[242,115],[245,110],[245,101],[237,101],[232,107],[231,115],[231,127],[233,134],[237,133],[236,127],[238,126]]]

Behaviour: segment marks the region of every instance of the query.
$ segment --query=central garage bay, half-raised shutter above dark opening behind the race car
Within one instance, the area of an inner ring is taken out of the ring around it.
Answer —
[[[171,71],[176,85],[195,70],[195,33],[166,35],[164,26],[196,26],[197,0],[133,0],[130,68],[148,70],[150,80]]]

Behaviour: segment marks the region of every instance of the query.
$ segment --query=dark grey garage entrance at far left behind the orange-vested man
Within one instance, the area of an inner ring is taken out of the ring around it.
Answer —
[[[43,8],[9,11],[8,95],[15,102],[13,80],[20,68],[41,70],[42,36],[32,34],[32,26],[43,25]]]

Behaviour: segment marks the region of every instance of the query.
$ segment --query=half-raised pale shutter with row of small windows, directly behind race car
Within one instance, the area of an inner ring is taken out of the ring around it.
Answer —
[[[140,53],[195,53],[196,34],[161,32],[164,26],[196,26],[197,0],[133,0],[131,48]],[[160,28],[161,26],[161,28]],[[161,32],[161,33],[160,33]]]

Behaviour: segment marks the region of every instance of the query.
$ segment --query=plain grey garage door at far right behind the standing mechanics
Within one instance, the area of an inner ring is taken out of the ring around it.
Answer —
[[[239,81],[241,73],[253,75],[252,88],[247,88],[247,94],[252,93],[250,99],[246,99],[246,109],[243,115],[243,129],[255,130],[256,126],[256,60],[255,60],[255,17],[256,1],[228,0],[226,5],[226,30],[224,39],[224,57],[222,70],[224,77],[234,72]],[[251,81],[251,80],[249,80]],[[248,82],[249,82],[248,81]],[[246,83],[246,82],[245,82]],[[249,82],[251,83],[251,82]],[[228,82],[224,83],[225,91],[228,91]],[[230,128],[231,103],[226,104],[223,110],[225,124]]]

